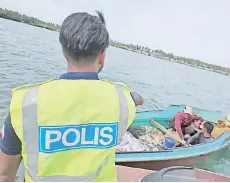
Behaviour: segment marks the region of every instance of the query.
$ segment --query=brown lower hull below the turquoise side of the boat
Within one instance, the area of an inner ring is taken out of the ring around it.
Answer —
[[[160,170],[162,168],[167,168],[171,166],[192,166],[197,162],[207,158],[211,153],[195,156],[195,157],[187,157],[180,159],[164,159],[164,160],[156,160],[156,161],[132,161],[132,162],[117,162],[116,165],[133,167],[133,168],[143,168],[147,170]]]

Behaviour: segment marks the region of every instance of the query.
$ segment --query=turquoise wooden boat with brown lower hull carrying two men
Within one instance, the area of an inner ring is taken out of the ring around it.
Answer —
[[[169,121],[177,112],[183,111],[185,105],[171,105],[165,110],[138,112],[132,124],[134,127],[151,124],[151,120],[168,127]],[[193,113],[207,121],[224,120],[226,117],[221,112],[208,111],[193,107]],[[177,147],[173,150],[155,152],[119,152],[116,153],[116,164],[128,167],[160,170],[170,166],[190,166],[207,158],[212,153],[219,151],[230,144],[230,132],[222,133],[213,141],[193,146]]]

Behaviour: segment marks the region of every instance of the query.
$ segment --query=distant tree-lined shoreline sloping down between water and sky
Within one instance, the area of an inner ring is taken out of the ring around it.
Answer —
[[[25,23],[28,25],[32,25],[35,27],[44,28],[44,29],[56,31],[56,32],[60,30],[60,25],[58,24],[54,24],[50,22],[47,23],[37,18],[29,17],[24,14],[22,15],[16,11],[11,11],[7,9],[0,8],[0,18],[6,19],[6,20],[12,20],[12,21],[19,22],[19,23]],[[110,41],[110,45],[113,47],[127,50],[127,51],[136,52],[142,55],[147,55],[147,56],[151,56],[154,58],[168,60],[170,62],[184,64],[184,65],[188,65],[188,66],[195,67],[198,69],[207,70],[207,71],[223,74],[226,76],[230,76],[230,68],[222,67],[222,66],[218,66],[214,64],[208,64],[206,62],[203,62],[197,59],[175,56],[172,53],[166,53],[162,50],[154,50],[148,47],[143,47],[143,46],[133,45],[133,44],[124,44],[124,43],[120,43],[117,41]]]

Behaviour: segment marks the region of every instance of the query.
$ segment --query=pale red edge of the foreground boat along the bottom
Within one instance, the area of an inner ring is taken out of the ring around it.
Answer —
[[[170,175],[169,173],[165,177],[161,177],[162,175],[162,170],[161,170],[160,178],[162,178],[162,180],[160,181],[159,174],[158,177],[154,175],[157,173],[156,171],[140,169],[140,168],[131,168],[125,166],[117,166],[118,181],[119,182],[140,182],[140,181],[142,182],[230,182],[230,177],[226,177],[224,175],[216,174],[206,170],[191,169],[189,171],[186,171],[186,169],[180,170],[180,167],[178,168],[170,167],[169,169],[173,169],[173,168],[178,169],[177,172],[174,172],[173,175],[172,174]],[[169,169],[163,171],[166,172]],[[184,171],[184,173],[181,173],[182,171]],[[148,180],[146,180],[146,178]]]

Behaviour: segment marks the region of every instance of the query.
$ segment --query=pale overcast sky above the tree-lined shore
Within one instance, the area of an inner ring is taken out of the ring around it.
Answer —
[[[58,24],[73,12],[101,10],[114,40],[230,67],[229,0],[0,0],[0,6]]]

